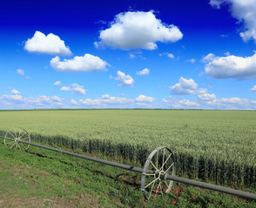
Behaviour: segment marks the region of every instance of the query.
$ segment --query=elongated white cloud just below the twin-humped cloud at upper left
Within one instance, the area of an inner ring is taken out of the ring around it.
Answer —
[[[105,70],[106,66],[109,65],[107,62],[100,59],[98,56],[85,54],[84,56],[75,56],[71,60],[64,59],[60,61],[58,56],[51,59],[51,67],[57,71],[67,72],[92,72]]]

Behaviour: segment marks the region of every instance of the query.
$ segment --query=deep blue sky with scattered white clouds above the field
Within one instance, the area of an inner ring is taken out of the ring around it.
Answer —
[[[0,109],[256,109],[256,0],[1,1]]]

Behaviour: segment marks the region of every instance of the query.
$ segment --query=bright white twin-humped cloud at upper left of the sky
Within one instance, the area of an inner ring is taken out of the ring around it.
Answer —
[[[25,42],[24,49],[40,54],[71,55],[71,50],[58,36],[52,33],[45,36],[40,31],[36,31],[34,36]]]

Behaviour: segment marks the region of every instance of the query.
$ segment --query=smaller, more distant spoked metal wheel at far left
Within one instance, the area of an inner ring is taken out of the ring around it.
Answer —
[[[11,128],[4,136],[4,145],[10,148],[19,148],[28,150],[30,145],[21,143],[20,141],[29,141],[30,142],[30,134],[20,127]]]

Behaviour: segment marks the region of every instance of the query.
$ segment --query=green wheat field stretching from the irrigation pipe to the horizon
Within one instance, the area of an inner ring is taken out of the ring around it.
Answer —
[[[143,165],[169,146],[179,176],[256,188],[256,112],[198,110],[40,110],[0,112],[2,134],[24,127],[32,140]]]

